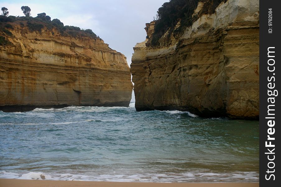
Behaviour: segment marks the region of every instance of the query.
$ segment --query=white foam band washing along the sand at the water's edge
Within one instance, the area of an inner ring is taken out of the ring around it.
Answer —
[[[14,173],[0,171],[0,178],[35,180],[80,180],[111,182],[258,182],[258,172],[212,173],[193,171],[171,174],[55,174],[42,172]]]

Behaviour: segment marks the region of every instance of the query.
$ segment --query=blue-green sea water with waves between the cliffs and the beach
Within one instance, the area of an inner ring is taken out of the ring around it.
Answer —
[[[0,178],[258,182],[259,122],[134,103],[1,111]]]

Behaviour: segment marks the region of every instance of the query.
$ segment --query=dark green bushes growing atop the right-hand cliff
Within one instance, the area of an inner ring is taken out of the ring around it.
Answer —
[[[154,33],[147,44],[158,46],[159,39],[167,31],[168,38],[172,33],[175,37],[182,34],[184,29],[191,26],[200,15],[212,14],[223,1],[227,0],[170,0],[170,2],[165,2],[157,11],[158,19],[155,21]],[[197,15],[193,15],[199,2],[203,2],[203,8]],[[175,29],[178,22],[180,22],[180,26]]]

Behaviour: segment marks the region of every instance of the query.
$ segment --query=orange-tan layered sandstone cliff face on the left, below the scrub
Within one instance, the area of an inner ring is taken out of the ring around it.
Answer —
[[[0,45],[0,110],[129,106],[133,85],[123,54],[98,38],[12,24],[9,45]]]

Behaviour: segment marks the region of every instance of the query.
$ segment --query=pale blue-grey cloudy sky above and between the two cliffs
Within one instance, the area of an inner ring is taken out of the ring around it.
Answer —
[[[91,29],[110,48],[123,53],[131,64],[133,46],[145,40],[145,23],[151,22],[159,7],[169,0],[0,0],[10,16],[24,16],[21,6],[29,6],[31,16],[45,12],[64,25]]]

